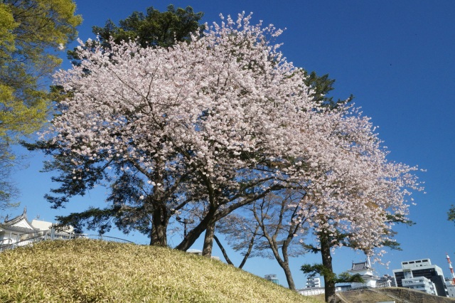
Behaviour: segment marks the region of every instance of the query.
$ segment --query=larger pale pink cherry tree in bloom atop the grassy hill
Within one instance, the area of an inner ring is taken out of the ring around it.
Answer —
[[[80,186],[55,190],[63,196],[50,201],[60,206],[108,181],[114,206],[128,214],[122,220],[148,214],[153,242],[166,245],[169,218],[203,193],[207,216],[178,246],[186,249],[210,224],[277,188],[273,170],[260,165],[287,149],[287,112],[296,120],[314,104],[302,78],[289,77],[299,71],[269,46],[280,31],[249,20],[229,19],[172,48],[79,48],[80,66],[55,75],[68,97],[48,132],[48,150],[70,155],[72,169],[64,172]]]

